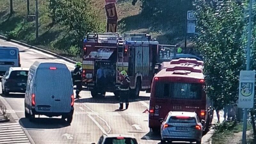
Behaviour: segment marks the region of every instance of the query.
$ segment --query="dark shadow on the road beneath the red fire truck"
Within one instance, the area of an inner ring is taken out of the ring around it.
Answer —
[[[136,102],[136,101],[144,101],[144,100],[149,100],[149,99],[150,99],[150,97],[140,96],[138,99],[130,99],[129,101],[130,102]],[[75,100],[75,102],[78,102],[78,103],[89,102],[89,103],[112,103],[112,104],[116,104],[116,103],[119,103],[119,100],[114,96],[106,96],[105,98],[97,97],[97,98],[79,99],[79,100]]]

